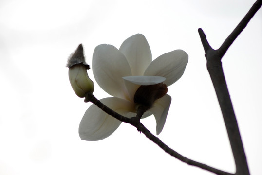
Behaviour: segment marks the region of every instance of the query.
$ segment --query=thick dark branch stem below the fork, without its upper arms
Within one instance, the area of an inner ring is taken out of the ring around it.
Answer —
[[[204,44],[203,44],[204,46]],[[218,50],[210,48],[206,51],[206,66],[214,85],[218,102],[223,114],[225,127],[230,141],[231,149],[236,164],[236,175],[249,175],[248,165],[244,153],[237,119],[225,82],[221,57]]]

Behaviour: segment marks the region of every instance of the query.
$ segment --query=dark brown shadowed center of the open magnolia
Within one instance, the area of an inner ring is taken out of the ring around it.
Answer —
[[[155,85],[141,85],[134,94],[134,103],[141,104],[150,109],[154,102],[166,95],[168,87],[164,83]]]

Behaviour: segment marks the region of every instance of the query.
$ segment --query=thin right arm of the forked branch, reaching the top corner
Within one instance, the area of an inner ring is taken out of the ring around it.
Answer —
[[[246,27],[247,23],[251,18],[256,14],[256,12],[260,9],[262,5],[262,0],[257,0],[251,9],[247,12],[244,18],[240,21],[237,27],[233,30],[233,32],[225,39],[224,43],[220,46],[219,56],[222,58],[234,40],[238,37],[238,35],[243,31]],[[202,40],[202,39],[201,39]],[[204,44],[203,44],[204,45]],[[204,47],[205,48],[205,47]]]

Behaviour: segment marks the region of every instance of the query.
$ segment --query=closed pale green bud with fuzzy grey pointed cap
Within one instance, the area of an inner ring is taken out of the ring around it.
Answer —
[[[85,62],[83,46],[80,44],[68,59],[67,67],[70,84],[78,97],[94,92],[94,83],[87,74],[89,65]]]

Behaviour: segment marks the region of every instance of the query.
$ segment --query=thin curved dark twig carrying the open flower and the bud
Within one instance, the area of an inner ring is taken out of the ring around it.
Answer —
[[[150,139],[151,141],[153,141],[155,144],[157,144],[160,148],[162,148],[166,153],[168,153],[169,155],[181,160],[182,162],[187,163],[188,165],[192,165],[192,166],[196,166],[199,168],[202,168],[204,170],[207,170],[209,172],[215,173],[217,175],[234,175],[232,173],[228,173],[213,167],[210,167],[206,164],[191,160],[187,157],[182,156],[181,154],[179,154],[178,152],[174,151],[173,149],[169,148],[164,142],[162,142],[159,138],[157,138],[156,136],[154,136],[141,122],[140,122],[140,118],[143,115],[143,113],[145,112],[143,108],[140,108],[140,110],[138,110],[137,112],[137,116],[136,117],[132,117],[132,118],[127,118],[124,117],[118,113],[116,113],[115,111],[113,111],[112,109],[110,109],[109,107],[107,107],[106,105],[102,104],[99,100],[97,100],[93,94],[88,94],[86,97],[88,100],[85,100],[85,102],[90,101],[92,103],[94,103],[94,105],[96,105],[97,107],[99,107],[100,109],[102,109],[104,112],[108,113],[109,115],[113,116],[114,118],[125,122],[125,123],[129,123],[131,125],[133,125],[134,127],[137,128],[138,131],[142,132],[148,139]]]

